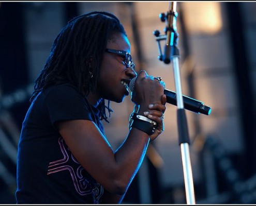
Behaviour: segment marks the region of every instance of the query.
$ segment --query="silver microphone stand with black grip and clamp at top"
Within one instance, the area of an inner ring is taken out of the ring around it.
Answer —
[[[158,59],[165,64],[173,63],[173,72],[175,80],[175,88],[177,95],[177,123],[178,123],[178,137],[179,145],[182,153],[185,189],[187,204],[195,204],[194,188],[192,179],[192,169],[189,152],[189,135],[187,118],[183,104],[182,87],[179,75],[179,49],[177,47],[178,33],[176,32],[176,2],[170,2],[169,11],[159,14],[162,22],[165,21],[165,35],[160,35],[158,30],[153,33],[156,36],[158,43],[158,50],[160,55]],[[161,53],[160,41],[166,39],[166,45],[164,47],[164,54]]]

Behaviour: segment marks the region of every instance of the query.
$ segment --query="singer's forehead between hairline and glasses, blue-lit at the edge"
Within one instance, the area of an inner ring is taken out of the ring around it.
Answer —
[[[107,48],[124,50],[130,53],[131,46],[128,38],[123,33],[117,33],[112,36],[107,43]]]

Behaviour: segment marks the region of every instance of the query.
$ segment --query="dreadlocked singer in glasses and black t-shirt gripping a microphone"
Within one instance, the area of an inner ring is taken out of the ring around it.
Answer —
[[[130,49],[108,12],[77,16],[56,36],[22,125],[18,204],[122,203],[148,145],[164,130],[167,102],[159,78],[135,72]],[[130,130],[114,151],[101,121],[109,122],[110,101],[121,103],[135,77]]]

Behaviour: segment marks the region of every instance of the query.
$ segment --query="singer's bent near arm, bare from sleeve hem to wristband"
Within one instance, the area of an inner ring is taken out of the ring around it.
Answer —
[[[58,128],[74,157],[97,182],[111,193],[125,193],[145,156],[149,142],[146,133],[131,129],[122,147],[114,153],[92,121],[59,122]]]

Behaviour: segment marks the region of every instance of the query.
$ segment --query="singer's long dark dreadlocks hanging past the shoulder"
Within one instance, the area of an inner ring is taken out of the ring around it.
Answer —
[[[71,83],[85,96],[96,89],[103,52],[108,41],[116,33],[126,32],[115,15],[94,11],[70,20],[55,38],[50,55],[39,76],[35,80],[34,92],[30,101],[51,85]],[[94,66],[88,64],[93,60]],[[107,121],[106,109],[110,112],[104,99],[98,105],[100,119]],[[107,121],[108,122],[108,121]]]

